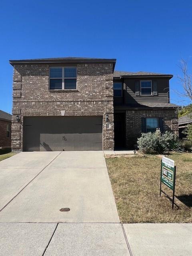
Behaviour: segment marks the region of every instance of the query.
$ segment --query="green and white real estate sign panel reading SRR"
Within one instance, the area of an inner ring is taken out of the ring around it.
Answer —
[[[174,161],[163,156],[161,164],[161,182],[174,190],[175,164]]]

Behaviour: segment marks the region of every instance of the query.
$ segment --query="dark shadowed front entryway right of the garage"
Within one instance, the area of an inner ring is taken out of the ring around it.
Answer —
[[[114,113],[115,148],[125,147],[125,113]]]

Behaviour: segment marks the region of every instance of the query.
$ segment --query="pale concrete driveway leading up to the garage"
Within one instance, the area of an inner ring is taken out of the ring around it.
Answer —
[[[0,176],[0,222],[120,222],[102,151],[22,152]]]

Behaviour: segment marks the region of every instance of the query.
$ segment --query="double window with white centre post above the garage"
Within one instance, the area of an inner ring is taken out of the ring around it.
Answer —
[[[50,90],[72,90],[76,88],[76,67],[50,68]]]

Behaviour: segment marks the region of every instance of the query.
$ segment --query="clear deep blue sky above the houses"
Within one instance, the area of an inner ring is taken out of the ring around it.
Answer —
[[[46,0],[0,4],[0,109],[12,111],[10,59],[116,58],[116,70],[192,70],[192,1]],[[171,89],[179,89],[176,78]],[[172,103],[180,99],[171,90]]]

